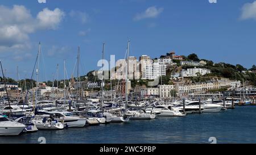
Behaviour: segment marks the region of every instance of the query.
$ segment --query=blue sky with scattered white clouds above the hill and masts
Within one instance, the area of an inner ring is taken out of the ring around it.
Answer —
[[[53,79],[57,64],[63,78],[64,59],[70,77],[78,45],[81,74],[98,69],[103,42],[106,59],[123,58],[128,38],[137,58],[174,50],[246,68],[256,64],[256,1],[3,0],[0,6],[0,59],[7,77],[16,78],[16,66],[20,78],[31,76],[39,41],[40,81]]]

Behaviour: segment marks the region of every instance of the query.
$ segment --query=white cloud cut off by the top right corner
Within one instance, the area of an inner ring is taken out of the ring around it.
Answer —
[[[242,7],[241,19],[255,19],[256,20],[256,1],[252,3],[245,3]]]

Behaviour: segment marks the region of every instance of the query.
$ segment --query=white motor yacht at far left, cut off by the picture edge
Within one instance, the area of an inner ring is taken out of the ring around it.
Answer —
[[[18,136],[26,126],[0,116],[0,136]]]

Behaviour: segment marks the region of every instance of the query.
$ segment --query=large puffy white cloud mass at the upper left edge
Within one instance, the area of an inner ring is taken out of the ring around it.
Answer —
[[[30,47],[29,34],[37,30],[55,30],[64,12],[44,9],[36,18],[24,6],[14,5],[13,8],[0,6],[0,52],[22,50]]]

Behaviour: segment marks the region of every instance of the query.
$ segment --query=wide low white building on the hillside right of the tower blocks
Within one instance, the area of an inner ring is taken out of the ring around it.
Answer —
[[[211,73],[209,69],[205,68],[188,68],[187,70],[183,69],[180,72],[181,77],[196,77],[197,73],[201,74],[202,76],[208,73]]]

